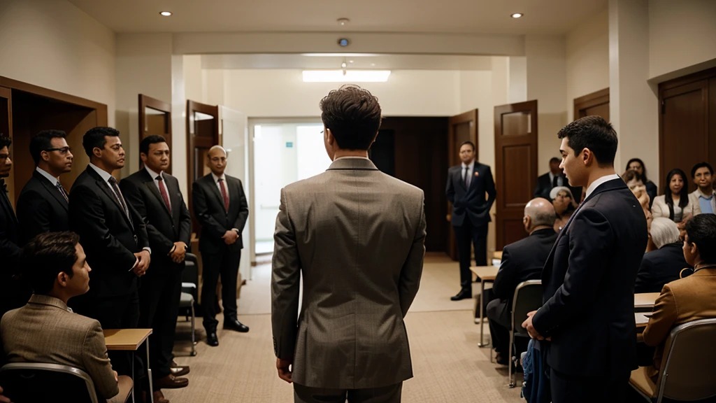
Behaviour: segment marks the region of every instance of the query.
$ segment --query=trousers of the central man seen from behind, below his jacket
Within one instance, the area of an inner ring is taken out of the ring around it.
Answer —
[[[295,403],[400,403],[402,382],[370,389],[325,389],[294,383]]]

